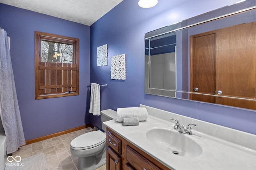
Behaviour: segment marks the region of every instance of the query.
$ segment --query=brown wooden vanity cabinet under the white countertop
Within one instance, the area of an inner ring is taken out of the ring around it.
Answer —
[[[107,170],[170,170],[107,128]]]

